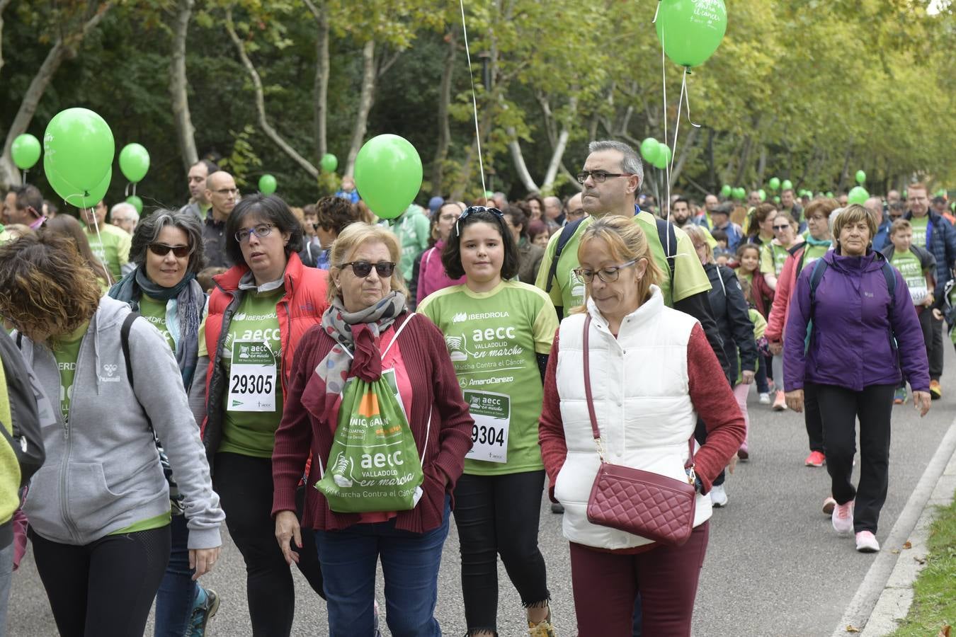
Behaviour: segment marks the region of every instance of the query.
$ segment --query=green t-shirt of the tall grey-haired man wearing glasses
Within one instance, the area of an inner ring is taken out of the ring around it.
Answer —
[[[658,285],[663,292],[664,303],[668,307],[673,306],[675,301],[682,301],[688,296],[709,291],[710,280],[707,279],[704,265],[701,265],[697,252],[694,250],[694,244],[690,241],[690,237],[684,233],[684,230],[674,227],[677,236],[677,255],[674,258],[674,289],[671,290],[670,269],[667,265],[667,257],[664,254],[661,239],[658,236],[657,222],[654,216],[641,210],[641,213],[634,220],[635,223],[641,224],[641,230],[647,236],[647,243],[650,245],[654,262],[661,269],[662,277]],[[573,270],[580,265],[577,262],[577,246],[581,242],[581,234],[593,221],[593,217],[587,217],[578,224],[575,234],[565,244],[564,249],[561,250],[561,256],[557,260],[557,271],[554,273],[554,282],[548,294],[555,307],[564,308],[565,315],[571,308],[584,305],[584,282],[577,278]],[[552,235],[551,241],[548,242],[548,247],[544,251],[544,257],[541,259],[541,269],[538,270],[537,279],[534,282],[534,285],[541,289],[545,289],[548,285],[548,272],[551,270],[554,251],[557,248],[557,240],[560,236],[560,231]]]

